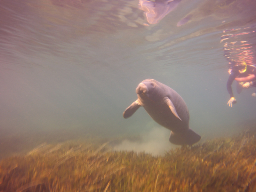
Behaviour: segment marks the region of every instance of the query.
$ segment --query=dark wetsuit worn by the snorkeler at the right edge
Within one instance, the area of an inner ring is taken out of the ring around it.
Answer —
[[[252,75],[252,74],[255,75],[255,77],[256,77],[256,67],[254,65],[247,65],[246,71],[242,74],[239,73],[238,69],[232,68],[231,73],[228,77],[228,82],[227,82],[227,90],[230,95],[230,98],[234,97],[231,85],[232,85],[233,81],[235,80],[235,78],[236,77],[246,77],[246,76]],[[256,87],[256,78],[254,78],[252,80],[252,82],[253,82],[252,86]]]

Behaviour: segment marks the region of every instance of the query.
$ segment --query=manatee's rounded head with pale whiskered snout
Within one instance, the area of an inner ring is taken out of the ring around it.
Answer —
[[[145,79],[136,88],[136,93],[141,99],[149,99],[154,101],[157,99],[156,97],[160,89],[157,83],[158,82],[154,79]]]

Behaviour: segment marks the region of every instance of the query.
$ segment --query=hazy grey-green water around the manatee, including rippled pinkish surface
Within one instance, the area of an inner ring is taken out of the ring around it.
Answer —
[[[255,61],[254,9],[247,0],[2,0],[1,139],[139,136],[116,149],[163,154],[169,130],[142,109],[122,117],[147,78],[180,94],[202,140],[241,131],[255,121],[255,90],[234,87],[228,107],[226,51],[247,47],[242,57]]]

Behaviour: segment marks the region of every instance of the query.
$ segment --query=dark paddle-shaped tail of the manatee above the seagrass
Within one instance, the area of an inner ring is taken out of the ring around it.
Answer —
[[[188,129],[185,133],[177,134],[171,131],[169,141],[175,145],[193,145],[201,139],[201,136],[192,129]]]

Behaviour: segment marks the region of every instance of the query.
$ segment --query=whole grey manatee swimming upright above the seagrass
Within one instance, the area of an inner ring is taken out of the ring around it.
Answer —
[[[125,119],[142,106],[156,123],[171,130],[171,143],[192,145],[201,139],[189,128],[188,107],[173,89],[154,79],[146,79],[138,85],[136,93],[138,99],[125,109]]]

